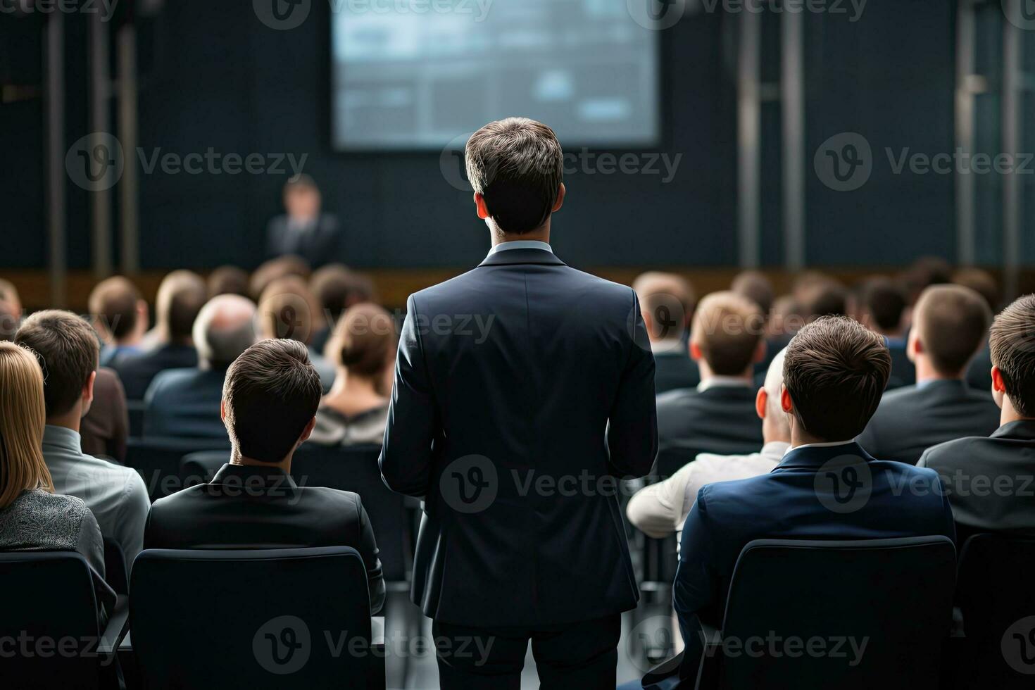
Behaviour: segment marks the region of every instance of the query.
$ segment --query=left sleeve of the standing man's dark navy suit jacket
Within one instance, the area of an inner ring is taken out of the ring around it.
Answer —
[[[432,474],[435,400],[418,327],[416,302],[407,300],[395,357],[395,381],[381,447],[381,477],[393,491],[423,497]]]

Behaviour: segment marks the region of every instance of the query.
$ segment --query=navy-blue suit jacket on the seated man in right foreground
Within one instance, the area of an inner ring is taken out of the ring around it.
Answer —
[[[792,449],[769,474],[707,484],[698,492],[683,527],[673,588],[680,626],[688,630],[697,614],[721,627],[734,565],[752,539],[928,535],[955,536],[933,470],[876,460],[857,443]],[[778,590],[773,573],[774,596]]]

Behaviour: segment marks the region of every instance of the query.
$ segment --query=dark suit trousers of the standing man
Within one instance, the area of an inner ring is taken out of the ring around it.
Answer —
[[[614,688],[622,616],[536,628],[474,628],[435,621],[439,687],[521,688],[528,640],[539,687]]]

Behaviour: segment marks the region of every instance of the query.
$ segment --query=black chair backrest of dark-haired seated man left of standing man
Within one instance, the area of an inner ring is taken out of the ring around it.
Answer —
[[[366,570],[348,546],[147,549],[129,589],[145,688],[364,687]]]

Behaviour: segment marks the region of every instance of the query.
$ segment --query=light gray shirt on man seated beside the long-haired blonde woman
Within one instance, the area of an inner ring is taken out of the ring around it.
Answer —
[[[122,547],[129,572],[144,546],[144,524],[151,508],[144,480],[136,470],[84,454],[79,433],[53,424],[43,429],[43,460],[54,491],[86,502],[100,533]]]

